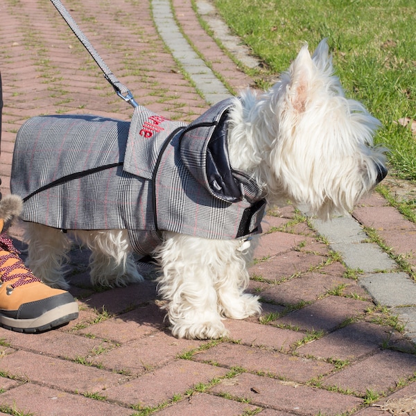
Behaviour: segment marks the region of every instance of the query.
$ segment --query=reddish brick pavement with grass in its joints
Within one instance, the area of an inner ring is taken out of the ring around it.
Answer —
[[[150,3],[65,1],[139,103],[191,121],[207,103],[157,35]],[[177,21],[232,89],[251,81],[202,30],[190,0]],[[0,174],[8,177],[15,133],[29,116],[132,114],[49,2],[0,4],[5,109]],[[378,194],[354,216],[412,266],[416,227]],[[401,322],[358,283],[292,207],[270,212],[249,291],[261,318],[226,320],[229,339],[177,340],[159,309],[154,270],[144,284],[97,291],[88,253],[71,251],[71,293],[80,316],[55,331],[0,329],[0,414],[24,415],[416,415],[415,347]],[[12,229],[16,245],[21,229]],[[412,305],[409,305],[412,306]],[[372,401],[373,399],[373,401]],[[407,400],[407,403],[405,401]],[[410,404],[409,404],[410,401]],[[406,407],[407,406],[407,407]],[[390,411],[389,411],[390,409]],[[20,413],[19,413],[20,412]]]

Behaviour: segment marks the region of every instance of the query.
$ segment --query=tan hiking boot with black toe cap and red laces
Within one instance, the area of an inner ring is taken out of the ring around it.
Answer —
[[[0,233],[3,230],[0,219]],[[34,333],[78,318],[78,304],[67,291],[50,288],[24,266],[11,239],[0,234],[0,326]]]

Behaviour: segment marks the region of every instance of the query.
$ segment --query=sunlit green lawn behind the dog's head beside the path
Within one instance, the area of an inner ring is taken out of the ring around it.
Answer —
[[[328,38],[349,97],[380,119],[376,143],[388,147],[399,177],[416,180],[416,138],[396,121],[416,119],[414,0],[214,0],[232,31],[276,76],[308,42]],[[269,74],[270,75],[270,74]]]

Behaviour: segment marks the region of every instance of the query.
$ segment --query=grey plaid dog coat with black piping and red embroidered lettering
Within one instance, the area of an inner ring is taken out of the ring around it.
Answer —
[[[146,107],[131,123],[90,115],[37,116],[17,133],[10,189],[21,218],[58,229],[128,229],[150,254],[168,230],[207,239],[261,232],[266,201],[250,174],[232,169],[227,112],[189,125]]]

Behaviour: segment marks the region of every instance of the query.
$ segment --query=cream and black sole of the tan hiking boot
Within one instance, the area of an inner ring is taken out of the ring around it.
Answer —
[[[57,306],[33,319],[13,319],[0,315],[0,326],[16,332],[35,333],[60,327],[76,318],[78,318],[78,304],[71,302]]]

